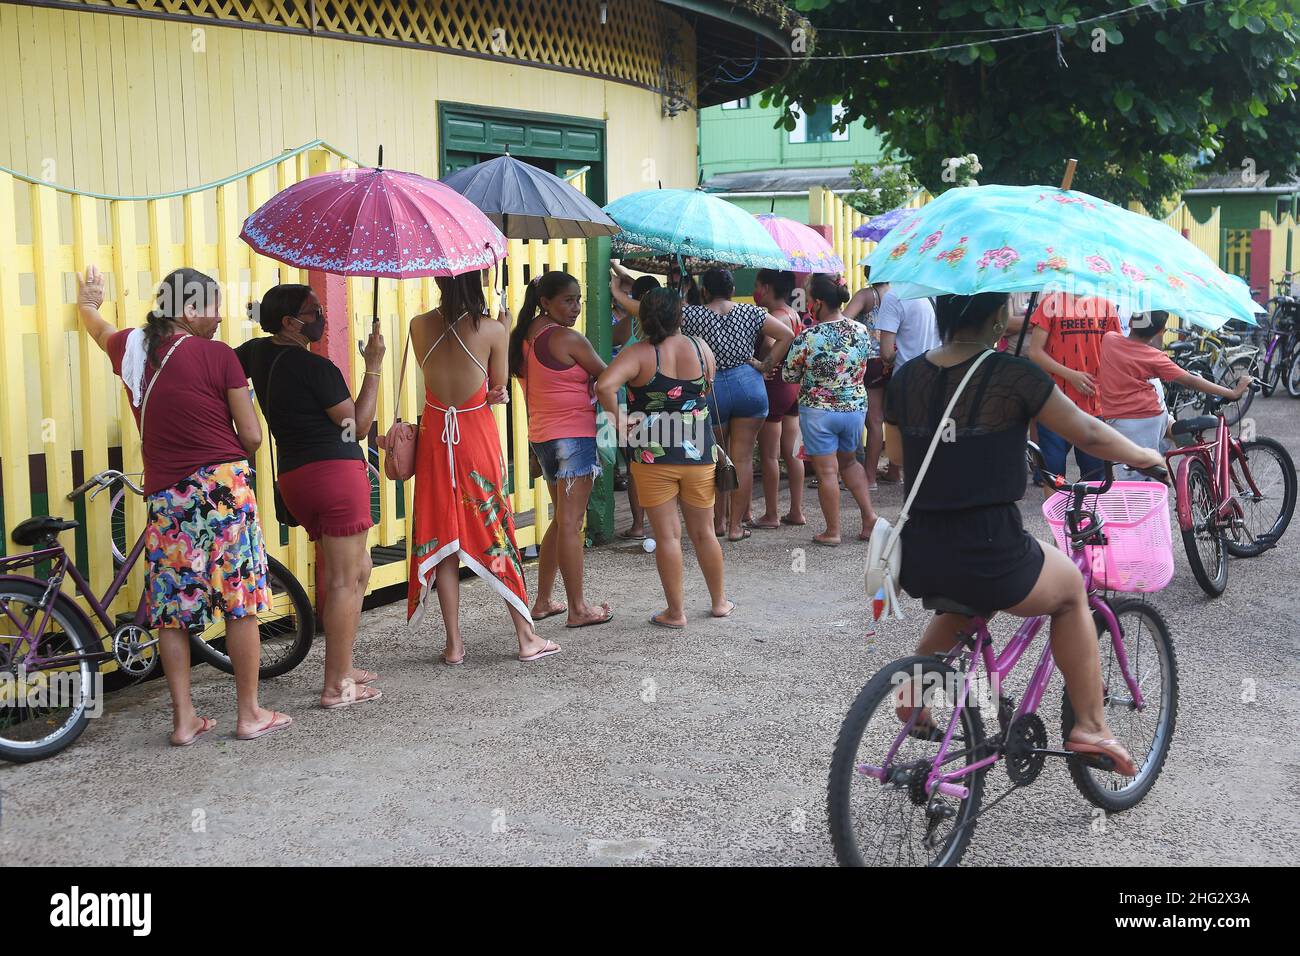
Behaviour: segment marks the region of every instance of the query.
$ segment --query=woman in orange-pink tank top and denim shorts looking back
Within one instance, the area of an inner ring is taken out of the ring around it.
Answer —
[[[592,382],[604,362],[573,326],[582,315],[582,287],[567,272],[534,276],[510,337],[510,371],[524,386],[528,442],[555,502],[538,555],[533,620],[568,614],[566,627],[603,624],[610,605],[582,594],[582,520],[601,475],[595,450]],[[555,575],[564,579],[568,605],[555,601]]]

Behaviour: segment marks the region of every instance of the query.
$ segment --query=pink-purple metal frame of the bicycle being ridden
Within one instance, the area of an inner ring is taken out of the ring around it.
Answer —
[[[1119,665],[1119,671],[1123,674],[1124,683],[1128,687],[1128,692],[1132,695],[1134,706],[1141,710],[1144,706],[1141,688],[1138,685],[1138,680],[1128,670],[1128,653],[1124,650],[1123,633],[1119,630],[1119,620],[1115,618],[1114,611],[1110,605],[1102,600],[1093,588],[1092,578],[1092,562],[1088,559],[1088,553],[1082,545],[1071,548],[1070,559],[1074,562],[1075,567],[1083,574],[1084,587],[1088,592],[1088,607],[1093,611],[1101,614],[1106,628],[1110,632],[1110,640],[1115,650],[1115,661]],[[966,708],[966,702],[970,700],[971,688],[979,675],[979,666],[983,661],[984,670],[988,672],[993,687],[1001,687],[1002,680],[1014,670],[1015,665],[1019,662],[1020,657],[1028,649],[1030,644],[1037,636],[1043,624],[1048,620],[1046,615],[1037,618],[1027,618],[1023,624],[1017,630],[1015,636],[1008,641],[1006,646],[1002,648],[1000,654],[993,653],[993,637],[988,632],[988,622],[984,618],[971,619],[971,631],[968,633],[961,633],[958,637],[962,644],[954,648],[945,661],[949,663],[958,657],[966,657],[970,661],[970,666],[966,669],[966,679],[962,682],[961,692],[957,696],[956,705],[953,706],[953,714],[948,719],[948,727],[944,731],[942,743],[939,745],[939,753],[935,754],[933,763],[931,765],[930,775],[926,779],[926,792],[933,795],[935,792],[944,793],[945,796],[958,797],[965,800],[970,796],[970,788],[958,783],[963,777],[968,777],[972,773],[984,770],[992,766],[1001,758],[1001,752],[996,752],[988,757],[982,757],[974,763],[963,766],[961,770],[944,771],[944,763],[948,758],[948,749],[953,740],[953,734],[957,730],[957,722],[961,719],[962,710]],[[971,640],[967,640],[971,639]],[[1034,669],[1034,675],[1030,678],[1030,685],[1024,692],[1024,697],[1017,705],[1014,719],[1024,717],[1027,714],[1036,713],[1039,704],[1043,702],[1043,695],[1046,692],[1048,682],[1052,679],[1052,671],[1054,670],[1056,661],[1052,657],[1052,644],[1050,641],[1043,648],[1043,656],[1039,658],[1037,666]],[[884,766],[874,767],[868,765],[859,765],[858,773],[872,777],[878,780],[885,780],[889,777],[889,767],[893,763],[894,756],[898,753],[898,748],[902,747],[904,741],[911,734],[913,727],[916,723],[916,718],[920,714],[920,708],[913,709],[911,717],[902,724],[898,735],[894,737],[893,745],[889,748],[885,756]]]

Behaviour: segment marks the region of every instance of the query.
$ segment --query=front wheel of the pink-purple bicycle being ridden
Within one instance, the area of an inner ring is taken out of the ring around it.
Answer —
[[[1115,641],[1100,614],[1093,614],[1097,640],[1101,641],[1102,705],[1106,724],[1124,745],[1138,767],[1136,777],[1088,766],[1071,757],[1070,779],[1083,797],[1108,813],[1127,810],[1156,786],[1174,740],[1178,723],[1178,659],[1169,626],[1154,606],[1139,598],[1113,601],[1110,610],[1119,622],[1128,674],[1143,693],[1143,709],[1134,705],[1115,654]],[[1070,695],[1061,695],[1061,739],[1069,740],[1074,730],[1074,708]]]

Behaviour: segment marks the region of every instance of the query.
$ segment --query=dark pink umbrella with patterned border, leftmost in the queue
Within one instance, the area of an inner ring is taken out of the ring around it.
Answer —
[[[459,193],[382,168],[295,183],[248,216],[239,238],[287,265],[376,278],[459,276],[506,255],[506,237]]]

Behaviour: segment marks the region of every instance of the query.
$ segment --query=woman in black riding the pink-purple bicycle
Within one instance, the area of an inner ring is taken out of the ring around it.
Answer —
[[[1024,531],[1017,502],[1026,492],[1024,436],[1034,419],[1097,458],[1136,468],[1164,462],[1080,411],[1028,359],[1006,352],[987,358],[949,421],[937,421],[970,363],[1004,336],[1008,299],[1006,293],[939,297],[944,345],[909,362],[889,381],[887,453],[892,462],[913,463],[904,468],[909,490],[935,431],[942,427],[952,434],[939,442],[904,527],[900,583],[918,598],[942,596],[1020,618],[1049,615],[1052,653],[1076,715],[1066,749],[1110,757],[1118,773],[1134,777],[1132,760],[1102,714],[1097,631],[1083,575],[1065,553]],[[916,653],[949,650],[968,622],[936,614]],[[910,708],[900,706],[898,715],[907,719]],[[923,726],[927,722],[922,714]]]

